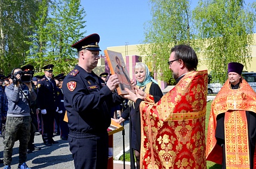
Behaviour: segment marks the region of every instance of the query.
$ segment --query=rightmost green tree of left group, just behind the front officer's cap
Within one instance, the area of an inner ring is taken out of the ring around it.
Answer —
[[[55,63],[57,73],[68,73],[78,62],[77,51],[71,45],[85,34],[85,11],[80,0],[55,1],[51,6],[50,61]]]

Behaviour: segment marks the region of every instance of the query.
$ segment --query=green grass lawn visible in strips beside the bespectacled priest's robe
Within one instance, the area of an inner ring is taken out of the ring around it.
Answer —
[[[205,127],[206,127],[205,133],[206,134],[207,134],[207,130],[208,130],[209,115],[210,115],[210,111],[211,111],[211,103],[212,103],[212,101],[207,102],[207,107],[206,107],[206,118],[205,118],[206,119],[205,120]],[[124,156],[122,155],[119,160],[124,161]],[[129,153],[125,154],[125,161],[130,161]],[[207,161],[206,165],[207,165],[207,168],[211,168],[211,169],[221,168],[221,165],[215,164],[214,162],[211,162],[211,161]]]

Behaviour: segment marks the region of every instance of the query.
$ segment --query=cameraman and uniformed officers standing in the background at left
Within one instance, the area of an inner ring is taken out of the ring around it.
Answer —
[[[62,82],[64,74],[53,76],[53,64],[45,65],[44,76],[33,77],[33,65],[13,68],[9,76],[0,76],[1,136],[4,138],[4,165],[11,168],[14,143],[18,140],[18,168],[29,169],[27,154],[40,150],[35,134],[42,134],[46,146],[58,143],[53,134],[67,140],[69,127],[63,121]]]

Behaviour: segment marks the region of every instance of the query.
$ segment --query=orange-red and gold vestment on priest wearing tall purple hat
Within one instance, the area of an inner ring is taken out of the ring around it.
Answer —
[[[239,89],[231,89],[227,80],[211,105],[206,160],[222,163],[223,148],[217,144],[215,133],[217,115],[225,113],[226,168],[250,168],[248,123],[245,111],[256,112],[256,93],[244,79]]]

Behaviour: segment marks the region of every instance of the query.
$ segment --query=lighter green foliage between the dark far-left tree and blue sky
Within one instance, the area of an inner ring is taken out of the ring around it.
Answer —
[[[38,12],[38,29],[33,35],[33,50],[27,63],[38,61],[38,72],[47,64],[54,64],[54,74],[68,73],[76,64],[75,49],[70,46],[84,35],[81,29],[85,27],[85,11],[80,0],[48,1]],[[50,13],[50,14],[48,14]],[[40,17],[41,16],[41,17]],[[31,43],[31,42],[30,42]]]

